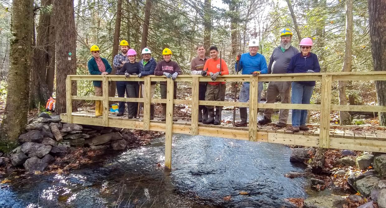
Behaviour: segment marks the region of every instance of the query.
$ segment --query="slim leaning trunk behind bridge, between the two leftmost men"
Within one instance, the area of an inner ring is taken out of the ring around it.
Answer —
[[[122,0],[117,1],[117,18],[115,19],[115,30],[114,30],[114,37],[113,37],[113,55],[112,55],[112,62],[114,61],[115,55],[118,54],[118,47],[119,47],[119,34],[120,34],[120,23],[122,19]],[[112,64],[112,72],[111,74],[115,74],[117,69],[115,69],[114,65]],[[110,97],[115,97],[115,82],[111,82],[110,86]]]

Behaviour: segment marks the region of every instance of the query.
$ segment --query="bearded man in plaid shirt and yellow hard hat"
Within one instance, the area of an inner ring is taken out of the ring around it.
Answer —
[[[125,72],[123,70],[123,65],[126,62],[130,62],[129,57],[127,56],[127,51],[129,50],[129,43],[126,40],[122,40],[119,45],[122,53],[114,56],[113,65],[117,70],[115,72],[116,75],[125,75]],[[116,84],[117,84],[118,97],[125,97],[125,93],[126,93],[126,97],[128,97],[128,94],[126,92],[127,81],[117,81]],[[129,105],[129,102],[127,103],[127,105]],[[125,102],[120,101],[117,116],[123,116],[124,112],[125,112]]]

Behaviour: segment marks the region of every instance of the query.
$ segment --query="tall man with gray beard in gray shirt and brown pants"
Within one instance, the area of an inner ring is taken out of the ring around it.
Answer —
[[[280,45],[273,50],[271,59],[269,60],[268,74],[287,73],[291,58],[299,53],[299,50],[291,45],[292,32],[290,29],[283,29],[280,38]],[[269,82],[266,103],[274,103],[278,95],[281,97],[281,103],[289,103],[291,101],[291,81]],[[279,122],[276,124],[277,127],[287,125],[288,111],[288,109],[280,109]],[[265,109],[264,117],[259,120],[259,124],[272,122],[272,113],[273,109]]]

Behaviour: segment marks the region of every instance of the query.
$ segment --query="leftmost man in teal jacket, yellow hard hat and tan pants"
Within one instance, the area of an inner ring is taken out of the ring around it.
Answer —
[[[100,57],[100,50],[97,45],[91,46],[93,56],[87,63],[88,71],[91,75],[108,75],[112,69],[107,59]],[[102,96],[102,81],[93,81],[95,96]],[[95,116],[102,116],[102,101],[95,101]]]

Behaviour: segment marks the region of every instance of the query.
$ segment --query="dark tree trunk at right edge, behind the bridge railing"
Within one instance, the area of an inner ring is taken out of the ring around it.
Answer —
[[[374,71],[385,71],[386,65],[386,2],[369,0],[369,25]],[[386,81],[375,81],[379,106],[386,106]],[[386,112],[379,112],[380,126],[386,125]]]

